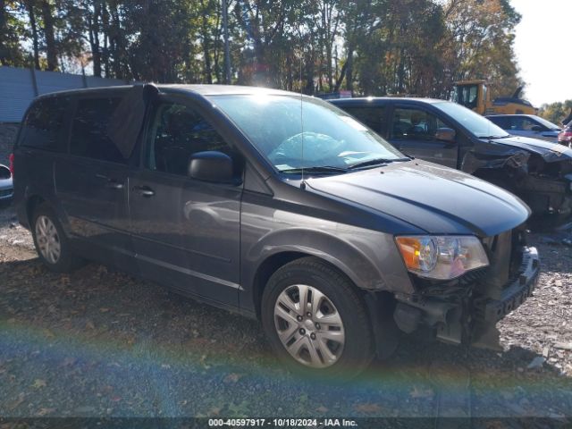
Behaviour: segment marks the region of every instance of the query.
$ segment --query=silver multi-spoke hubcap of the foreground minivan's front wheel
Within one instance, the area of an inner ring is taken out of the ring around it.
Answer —
[[[341,315],[320,290],[292,285],[276,299],[274,325],[291,357],[313,368],[332,366],[341,357],[345,334]]]

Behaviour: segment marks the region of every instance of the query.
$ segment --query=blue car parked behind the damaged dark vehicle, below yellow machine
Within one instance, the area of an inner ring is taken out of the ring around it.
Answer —
[[[486,116],[513,136],[530,137],[558,143],[558,125],[534,114],[492,114]]]

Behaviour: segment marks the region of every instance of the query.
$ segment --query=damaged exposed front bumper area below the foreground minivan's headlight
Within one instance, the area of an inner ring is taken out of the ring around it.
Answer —
[[[440,341],[499,349],[497,322],[525,302],[538,282],[540,263],[536,248],[524,247],[521,251],[517,278],[502,287],[491,288],[481,279],[465,284],[454,299],[397,296],[393,320],[403,332],[425,326],[432,328]]]

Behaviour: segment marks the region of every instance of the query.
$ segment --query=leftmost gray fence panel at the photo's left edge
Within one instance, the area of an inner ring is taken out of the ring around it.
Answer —
[[[21,122],[34,97],[29,69],[0,67],[0,122]]]

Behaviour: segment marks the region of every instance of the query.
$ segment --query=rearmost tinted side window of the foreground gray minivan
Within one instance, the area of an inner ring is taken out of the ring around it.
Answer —
[[[63,118],[69,105],[67,97],[38,100],[29,109],[21,130],[21,146],[62,150]]]

